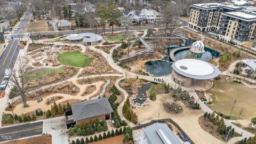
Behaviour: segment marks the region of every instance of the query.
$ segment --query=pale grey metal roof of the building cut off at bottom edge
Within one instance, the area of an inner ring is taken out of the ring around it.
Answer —
[[[154,123],[143,130],[150,143],[181,143],[165,123]]]

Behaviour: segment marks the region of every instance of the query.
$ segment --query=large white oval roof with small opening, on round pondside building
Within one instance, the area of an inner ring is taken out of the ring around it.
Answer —
[[[182,59],[173,63],[173,69],[180,75],[193,79],[211,79],[220,71],[209,62],[197,59]]]

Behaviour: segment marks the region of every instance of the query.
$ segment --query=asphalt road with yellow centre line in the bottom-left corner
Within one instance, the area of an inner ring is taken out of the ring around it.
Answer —
[[[0,129],[0,142],[42,134],[43,122],[23,124]]]

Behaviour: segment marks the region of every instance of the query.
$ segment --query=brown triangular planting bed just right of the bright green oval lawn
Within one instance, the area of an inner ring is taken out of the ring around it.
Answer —
[[[119,74],[117,70],[109,66],[107,60],[104,57],[102,57],[101,54],[89,49],[86,50],[85,54],[89,55],[90,57],[92,56],[95,59],[92,61],[92,63],[90,63],[89,66],[86,66],[83,69],[79,77],[95,74]]]

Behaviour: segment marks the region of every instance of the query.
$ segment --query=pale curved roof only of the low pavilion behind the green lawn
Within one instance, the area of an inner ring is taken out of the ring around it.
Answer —
[[[102,40],[102,36],[93,33],[70,34],[66,37],[70,41],[98,42]]]

